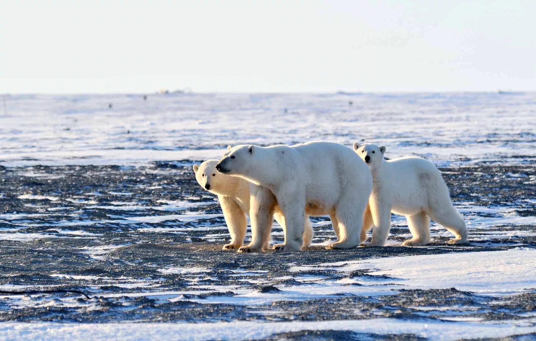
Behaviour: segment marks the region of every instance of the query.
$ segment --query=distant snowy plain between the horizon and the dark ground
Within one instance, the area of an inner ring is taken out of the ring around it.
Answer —
[[[365,139],[388,145],[391,158],[418,154],[442,165],[536,157],[531,93],[183,94],[147,101],[12,95],[6,101],[0,162],[10,167],[204,160],[220,157],[229,144],[315,139],[346,145]]]

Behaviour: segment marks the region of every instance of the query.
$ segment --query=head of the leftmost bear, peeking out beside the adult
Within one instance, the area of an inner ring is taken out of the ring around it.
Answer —
[[[206,160],[201,165],[193,165],[197,183],[215,195],[229,195],[234,189],[235,179],[230,175],[218,173],[219,160]]]

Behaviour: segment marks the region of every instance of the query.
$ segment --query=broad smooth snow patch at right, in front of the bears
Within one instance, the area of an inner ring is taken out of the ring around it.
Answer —
[[[332,268],[338,272],[350,273],[355,270],[374,269],[370,275],[393,277],[370,280],[377,285],[394,283],[404,289],[456,288],[461,291],[492,294],[535,290],[535,264],[536,249],[522,247],[506,251],[411,255],[344,263],[322,263],[291,267],[289,270],[301,272]],[[467,278],[471,278],[471,281],[467,281]],[[364,283],[359,279],[353,282]]]

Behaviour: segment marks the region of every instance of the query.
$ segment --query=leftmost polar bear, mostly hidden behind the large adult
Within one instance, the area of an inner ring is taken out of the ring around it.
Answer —
[[[217,195],[220,201],[221,210],[224,212],[225,222],[231,236],[231,242],[225,244],[223,249],[239,249],[244,242],[248,224],[245,214],[249,214],[250,183],[240,177],[218,173],[215,168],[218,161],[206,160],[201,165],[193,165],[193,172],[196,174],[196,180],[201,187]],[[285,231],[285,220],[278,206],[274,207],[273,215]],[[302,247],[308,247],[311,244],[313,234],[312,224],[307,216],[304,223]],[[270,240],[267,239],[263,249],[269,249],[269,242]]]

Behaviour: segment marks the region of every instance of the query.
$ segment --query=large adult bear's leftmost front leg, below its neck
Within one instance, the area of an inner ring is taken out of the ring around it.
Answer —
[[[260,252],[270,241],[273,210],[276,197],[266,187],[250,184],[249,218],[251,220],[251,243],[240,247],[239,252]]]

